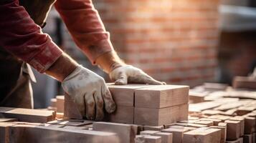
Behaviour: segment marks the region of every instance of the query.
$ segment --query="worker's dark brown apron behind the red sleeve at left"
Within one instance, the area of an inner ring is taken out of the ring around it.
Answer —
[[[24,6],[36,24],[44,26],[54,1],[19,0],[19,4]],[[33,108],[30,80],[35,79],[32,69],[29,64],[9,54],[3,47],[0,47],[0,79],[0,107]]]

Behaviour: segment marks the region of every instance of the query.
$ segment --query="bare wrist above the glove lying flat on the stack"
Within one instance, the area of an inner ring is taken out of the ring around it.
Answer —
[[[100,66],[100,68],[108,74],[113,69],[125,65],[125,63],[119,58],[118,54],[116,54],[115,51],[109,51],[99,56],[96,59],[96,64],[98,64],[98,66]]]

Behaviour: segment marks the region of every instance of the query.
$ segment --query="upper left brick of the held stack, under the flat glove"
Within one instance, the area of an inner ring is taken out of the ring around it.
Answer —
[[[115,104],[118,106],[133,107],[134,106],[134,92],[136,89],[142,87],[150,87],[146,84],[128,84],[128,85],[114,85],[108,84],[108,89],[112,94]]]

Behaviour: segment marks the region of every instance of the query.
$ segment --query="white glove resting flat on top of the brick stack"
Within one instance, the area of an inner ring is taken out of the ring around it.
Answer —
[[[144,71],[131,65],[120,66],[110,72],[110,79],[115,81],[116,85],[133,84],[166,84],[158,82],[148,76]]]

